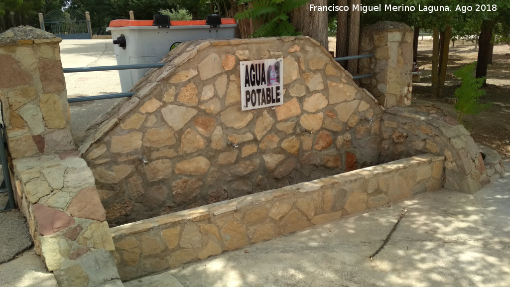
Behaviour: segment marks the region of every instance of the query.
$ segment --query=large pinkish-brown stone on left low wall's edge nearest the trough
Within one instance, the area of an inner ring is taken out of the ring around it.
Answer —
[[[106,211],[99,199],[95,186],[89,186],[78,192],[66,209],[73,217],[87,218],[103,222]]]

